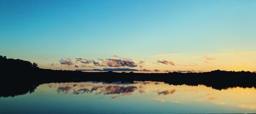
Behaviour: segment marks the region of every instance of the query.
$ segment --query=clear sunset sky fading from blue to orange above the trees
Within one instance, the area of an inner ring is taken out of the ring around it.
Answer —
[[[256,71],[255,6],[255,0],[1,0],[0,55],[63,70]]]

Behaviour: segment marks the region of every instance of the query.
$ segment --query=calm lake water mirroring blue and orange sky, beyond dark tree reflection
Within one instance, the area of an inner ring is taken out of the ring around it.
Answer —
[[[0,97],[0,114],[5,113],[256,113],[256,89],[160,82],[49,83],[31,94]]]

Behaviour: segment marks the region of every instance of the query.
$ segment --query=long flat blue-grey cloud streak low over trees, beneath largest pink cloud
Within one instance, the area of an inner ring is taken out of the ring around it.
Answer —
[[[133,68],[76,69],[76,71],[140,71]]]

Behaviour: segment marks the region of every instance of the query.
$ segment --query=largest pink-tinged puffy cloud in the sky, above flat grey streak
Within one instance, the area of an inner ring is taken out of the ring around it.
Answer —
[[[121,60],[121,59],[105,59],[102,61],[103,64],[109,67],[137,67],[138,65],[131,60]]]

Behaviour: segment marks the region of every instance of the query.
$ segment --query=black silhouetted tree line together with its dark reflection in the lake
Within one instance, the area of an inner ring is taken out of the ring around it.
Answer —
[[[256,88],[256,73],[250,71],[210,71],[203,73],[117,73],[82,72],[38,68],[36,63],[7,59],[0,56],[0,96],[8,97],[33,92],[43,83],[98,81],[133,83],[136,81],[164,82],[169,85],[206,85],[214,89],[234,87]]]

